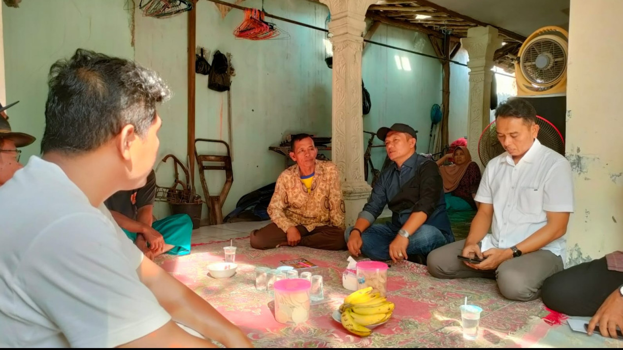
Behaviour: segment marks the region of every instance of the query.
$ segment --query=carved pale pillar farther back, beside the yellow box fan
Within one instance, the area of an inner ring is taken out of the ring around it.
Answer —
[[[470,69],[467,148],[473,161],[482,169],[478,157],[478,140],[489,125],[493,53],[502,47],[502,39],[494,27],[474,27],[468,29],[467,37],[461,39],[461,45],[469,55],[467,67]]]

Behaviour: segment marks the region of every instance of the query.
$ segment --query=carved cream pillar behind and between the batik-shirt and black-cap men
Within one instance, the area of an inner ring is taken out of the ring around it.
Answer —
[[[329,7],[333,44],[331,159],[342,176],[346,225],[354,224],[371,188],[363,175],[361,50],[366,11],[376,0],[320,0]]]

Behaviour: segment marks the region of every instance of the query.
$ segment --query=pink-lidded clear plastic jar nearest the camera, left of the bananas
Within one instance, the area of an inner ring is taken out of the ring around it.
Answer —
[[[278,323],[297,324],[310,316],[312,282],[290,278],[275,282],[275,320]]]

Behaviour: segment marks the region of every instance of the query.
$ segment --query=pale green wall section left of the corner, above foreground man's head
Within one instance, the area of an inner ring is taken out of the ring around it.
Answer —
[[[45,126],[47,74],[78,48],[132,59],[126,0],[28,0],[19,8],[2,2],[7,110],[13,130],[36,136],[22,150],[22,163],[39,154]]]

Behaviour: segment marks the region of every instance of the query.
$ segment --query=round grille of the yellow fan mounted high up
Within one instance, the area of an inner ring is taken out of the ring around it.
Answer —
[[[562,77],[567,66],[566,50],[556,40],[534,40],[521,57],[521,70],[531,83],[549,85]]]

